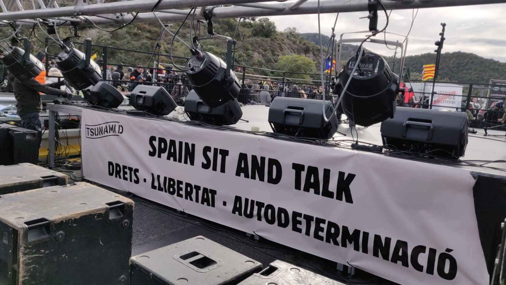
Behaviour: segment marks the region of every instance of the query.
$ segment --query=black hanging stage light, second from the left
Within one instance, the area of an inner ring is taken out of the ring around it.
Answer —
[[[91,59],[92,40],[85,39],[85,53],[67,48],[56,57],[56,64],[63,77],[75,90],[83,90],[97,84],[102,78],[100,67]]]

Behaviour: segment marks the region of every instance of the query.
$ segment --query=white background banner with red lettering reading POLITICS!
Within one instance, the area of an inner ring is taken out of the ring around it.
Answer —
[[[424,91],[423,83],[407,83],[407,88],[413,87],[416,100],[420,100],[420,96],[423,92],[428,93],[426,96],[431,96],[432,82],[427,82]],[[434,98],[432,101],[434,110],[453,110],[456,108],[462,108],[462,86],[449,83],[436,83],[434,87]],[[430,100],[430,99],[429,99]],[[430,102],[430,101],[429,101]],[[441,107],[445,106],[445,107]]]

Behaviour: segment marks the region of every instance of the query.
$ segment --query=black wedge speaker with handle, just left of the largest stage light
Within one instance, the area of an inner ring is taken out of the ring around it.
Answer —
[[[295,137],[329,139],[338,130],[338,119],[332,113],[332,102],[322,100],[276,97],[269,107],[269,124],[274,133]]]

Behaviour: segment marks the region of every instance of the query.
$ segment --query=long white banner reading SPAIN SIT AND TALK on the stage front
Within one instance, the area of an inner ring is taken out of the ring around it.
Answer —
[[[400,284],[487,284],[469,171],[82,111],[87,179]]]

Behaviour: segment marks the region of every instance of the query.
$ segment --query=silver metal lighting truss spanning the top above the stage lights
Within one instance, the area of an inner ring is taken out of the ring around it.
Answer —
[[[71,6],[59,7],[57,0],[49,0],[45,5],[43,0],[33,0],[35,9],[30,8],[31,0],[25,0],[25,7],[20,0],[0,0],[0,27],[9,27],[12,21],[16,25],[31,26],[34,19],[51,19],[56,24],[89,25],[91,19],[96,24],[124,24],[133,19],[134,12],[140,12],[136,22],[155,22],[157,19],[151,13],[156,0],[121,0],[120,2],[105,3],[105,0],[74,0]],[[223,6],[212,10],[214,18],[260,17],[276,15],[316,14],[317,1],[297,0],[279,4],[260,3],[265,0],[164,0],[155,9],[156,15],[162,21],[178,21],[184,19],[189,7]],[[321,0],[321,13],[343,13],[367,11],[368,0]],[[387,9],[416,9],[451,7],[466,5],[483,5],[506,3],[504,0],[384,0]],[[395,6],[395,7],[394,7]],[[25,8],[25,9],[23,9]],[[145,13],[147,12],[147,13]],[[195,15],[196,19],[203,19],[203,15]],[[10,22],[11,21],[11,22]]]

